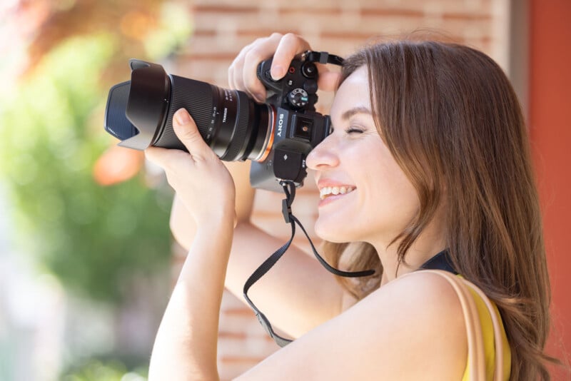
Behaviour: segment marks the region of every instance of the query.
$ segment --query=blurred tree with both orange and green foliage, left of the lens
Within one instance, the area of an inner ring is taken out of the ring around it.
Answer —
[[[120,300],[132,275],[169,264],[170,194],[148,189],[141,175],[108,187],[94,180],[111,143],[102,128],[106,93],[128,78],[128,58],[158,60],[188,38],[188,6],[36,0],[10,12],[30,41],[25,76],[0,99],[0,175],[16,204],[19,242],[69,289]]]

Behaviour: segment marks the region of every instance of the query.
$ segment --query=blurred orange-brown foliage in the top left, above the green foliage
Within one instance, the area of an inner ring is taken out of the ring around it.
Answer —
[[[191,30],[181,0],[20,0],[9,17],[27,26],[29,69],[66,39],[109,33],[117,46],[108,72],[123,73],[126,58],[167,56]]]

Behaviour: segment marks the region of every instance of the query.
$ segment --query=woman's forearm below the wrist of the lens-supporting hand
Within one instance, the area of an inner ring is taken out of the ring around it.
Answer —
[[[218,315],[233,236],[233,215],[203,225],[158,329],[149,380],[217,380]]]

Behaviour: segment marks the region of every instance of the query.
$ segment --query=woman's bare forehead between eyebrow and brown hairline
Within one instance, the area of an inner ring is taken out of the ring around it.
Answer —
[[[369,79],[365,66],[353,71],[337,89],[331,105],[331,118],[339,118],[345,111],[361,107],[370,110]]]

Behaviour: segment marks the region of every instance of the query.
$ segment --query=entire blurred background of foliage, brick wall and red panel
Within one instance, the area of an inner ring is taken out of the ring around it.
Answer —
[[[550,352],[564,358],[570,23],[568,0],[2,0],[0,380],[146,380],[185,253],[171,239],[172,193],[160,171],[103,131],[108,88],[129,79],[130,58],[227,86],[238,51],[273,31],[346,56],[375,36],[428,29],[504,68],[530,125],[554,299]],[[329,102],[320,94],[320,111]],[[309,227],[307,183],[294,209]],[[285,242],[281,198],[258,191],[253,220]],[[251,311],[224,295],[221,378],[276,349]]]

